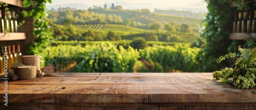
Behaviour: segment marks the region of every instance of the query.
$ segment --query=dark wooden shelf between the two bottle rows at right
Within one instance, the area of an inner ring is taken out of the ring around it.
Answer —
[[[229,39],[232,40],[247,40],[250,38],[256,38],[256,33],[230,33]]]

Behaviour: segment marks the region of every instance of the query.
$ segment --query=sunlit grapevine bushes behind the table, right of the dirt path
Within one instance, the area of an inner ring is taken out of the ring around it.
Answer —
[[[140,57],[153,64],[153,72],[171,72],[179,70],[181,72],[197,71],[197,54],[201,49],[189,48],[187,45],[157,46],[147,47],[139,50]]]

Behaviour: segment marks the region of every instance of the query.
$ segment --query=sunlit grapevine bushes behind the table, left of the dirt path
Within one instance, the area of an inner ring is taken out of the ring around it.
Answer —
[[[86,45],[82,47],[70,45],[58,45],[48,47],[44,51],[43,58],[46,64],[66,64],[73,60],[77,62],[72,72],[95,73],[95,72],[133,72],[139,52],[132,47],[119,50],[111,43]]]

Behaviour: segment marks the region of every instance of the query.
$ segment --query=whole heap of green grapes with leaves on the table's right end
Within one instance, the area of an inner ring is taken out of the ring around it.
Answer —
[[[237,89],[248,89],[255,86],[256,74],[256,48],[252,51],[249,49],[239,49],[242,57],[237,58],[234,63],[234,69],[225,68],[222,71],[216,71],[212,75],[214,79],[221,80],[223,83],[230,83]],[[224,59],[234,54],[221,56],[219,59]],[[217,61],[218,62],[218,61]]]

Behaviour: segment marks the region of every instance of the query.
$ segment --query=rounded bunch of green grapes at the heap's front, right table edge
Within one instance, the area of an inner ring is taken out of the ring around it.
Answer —
[[[252,78],[247,78],[246,76],[241,75],[238,77],[234,76],[230,83],[237,89],[248,89],[249,87],[252,88],[255,86],[254,80]]]

